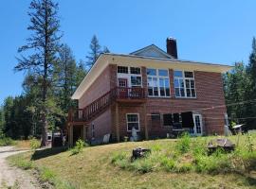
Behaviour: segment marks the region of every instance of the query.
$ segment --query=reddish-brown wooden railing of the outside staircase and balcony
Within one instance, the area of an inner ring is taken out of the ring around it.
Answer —
[[[119,99],[144,99],[145,92],[143,88],[124,88],[116,87],[108,93],[103,94],[83,109],[69,110],[68,122],[86,122],[100,114],[112,102]]]

